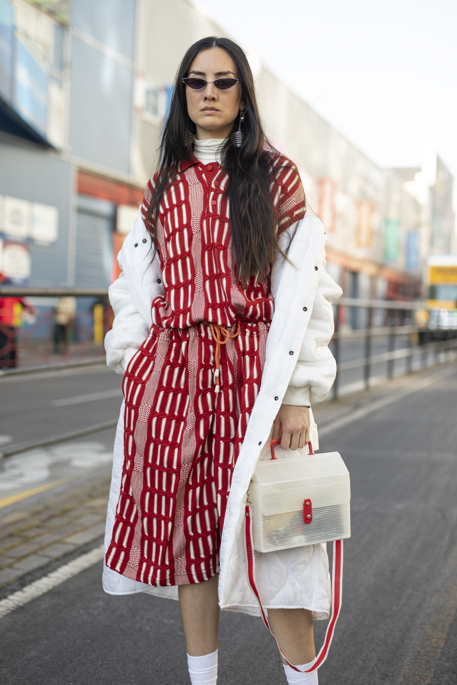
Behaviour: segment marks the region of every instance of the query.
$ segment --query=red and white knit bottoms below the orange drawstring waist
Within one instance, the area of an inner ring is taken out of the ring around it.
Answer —
[[[106,564],[132,580],[186,585],[219,572],[232,471],[260,388],[269,324],[221,347],[206,325],[151,327],[123,380],[124,465]],[[234,332],[231,330],[231,332]]]

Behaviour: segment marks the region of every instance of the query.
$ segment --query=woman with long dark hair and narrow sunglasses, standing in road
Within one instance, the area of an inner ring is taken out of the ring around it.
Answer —
[[[334,380],[341,295],[324,244],[295,165],[264,136],[245,54],[199,40],[110,288],[107,359],[125,372],[125,407],[103,571],[108,593],[179,597],[193,683],[216,682],[219,608],[258,614],[242,525],[273,421],[284,449],[317,443],[310,399]],[[258,554],[256,568],[272,630],[303,669],[312,619],[329,615],[325,545]]]

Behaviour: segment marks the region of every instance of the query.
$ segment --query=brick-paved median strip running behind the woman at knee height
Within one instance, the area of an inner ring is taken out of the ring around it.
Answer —
[[[314,419],[323,436],[336,423],[354,421],[360,412],[395,401],[398,395],[420,391],[427,379],[446,375],[455,362],[423,369],[408,376],[386,381],[337,401],[325,401],[313,408]],[[0,510],[0,588],[51,562],[92,543],[104,532],[110,466],[97,475],[42,493],[38,498]],[[46,571],[43,569],[43,573]]]

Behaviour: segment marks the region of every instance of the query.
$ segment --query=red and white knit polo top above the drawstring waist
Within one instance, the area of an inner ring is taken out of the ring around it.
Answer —
[[[288,164],[288,166],[285,166]],[[152,321],[163,328],[188,328],[201,321],[232,326],[238,321],[271,321],[269,278],[251,277],[247,288],[236,281],[227,184],[217,162],[182,162],[164,195],[158,216],[158,243],[164,295],[152,303]],[[293,162],[276,156],[271,183],[278,231],[305,212],[304,191]],[[155,179],[143,199],[143,219]]]

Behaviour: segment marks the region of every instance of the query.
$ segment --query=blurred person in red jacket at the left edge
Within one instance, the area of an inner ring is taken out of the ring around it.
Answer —
[[[36,308],[23,297],[0,297],[0,367],[14,367],[17,364],[16,336],[29,314],[34,321]]]

